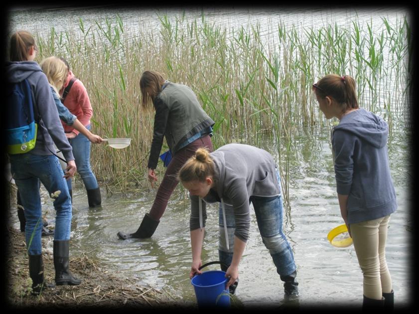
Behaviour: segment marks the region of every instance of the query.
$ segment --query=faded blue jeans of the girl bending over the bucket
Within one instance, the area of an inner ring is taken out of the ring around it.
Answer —
[[[280,177],[277,171],[278,184],[280,189]],[[282,196],[279,194],[274,197],[252,196],[249,200],[255,208],[256,220],[263,243],[271,253],[277,273],[280,276],[287,276],[296,270],[294,255],[291,247],[282,232]],[[224,264],[230,265],[234,252],[234,230],[235,219],[232,206],[225,205],[226,224],[229,237],[229,250],[227,250],[226,239],[224,236],[223,211],[220,204],[219,209],[219,247],[218,256]]]

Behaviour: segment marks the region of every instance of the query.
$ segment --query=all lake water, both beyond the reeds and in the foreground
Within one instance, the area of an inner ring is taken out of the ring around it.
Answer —
[[[181,14],[180,9],[93,8],[16,10],[10,15],[10,30],[25,29],[39,34],[49,33],[54,26],[59,31],[78,28],[81,18],[85,27],[98,18],[115,14],[121,16],[126,35],[135,32],[141,23],[151,23],[158,31],[156,12],[169,16]],[[357,16],[361,24],[371,19],[379,24],[381,17],[394,20],[407,12],[396,8],[356,9],[204,9],[207,20],[230,23],[231,26],[260,22],[323,26],[327,23],[347,25]],[[170,15],[172,14],[172,15]],[[199,17],[200,10],[186,10],[185,18]],[[265,35],[270,36],[271,28]],[[411,276],[412,221],[410,213],[411,191],[409,124],[405,117],[394,121],[389,141],[389,157],[399,208],[391,216],[387,262],[396,295],[396,307],[412,299]],[[265,144],[269,147],[269,143]],[[290,210],[284,213],[283,229],[293,249],[297,264],[297,280],[301,306],[336,304],[362,304],[362,274],[353,246],[335,248],[327,240],[327,233],[341,224],[336,196],[332,154],[328,132],[311,134],[301,131],[293,140],[290,157],[289,195]],[[143,169],[144,172],[146,169]],[[160,176],[161,178],[161,176]],[[131,194],[106,194],[102,186],[102,207],[89,209],[86,192],[80,182],[73,187],[73,222],[71,255],[83,252],[101,260],[107,268],[130,278],[133,285],[149,285],[168,292],[173,303],[196,303],[193,287],[188,278],[191,249],[189,239],[189,202],[177,188],[170,199],[161,222],[150,239],[121,241],[118,231],[134,232],[142,217],[149,211],[154,191]],[[43,205],[53,224],[52,202]],[[211,207],[210,207],[211,208]],[[207,234],[202,253],[203,263],[218,260],[218,208],[208,210]],[[10,212],[11,223],[18,228],[15,206]],[[52,242],[52,239],[50,239]],[[52,243],[50,245],[52,250]],[[250,239],[240,264],[240,284],[236,297],[244,307],[279,306],[283,303],[283,288],[268,250],[262,243],[256,217],[252,211]]]

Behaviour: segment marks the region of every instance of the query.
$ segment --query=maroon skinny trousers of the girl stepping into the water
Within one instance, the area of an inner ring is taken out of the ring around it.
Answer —
[[[204,135],[200,139],[197,139],[187,146],[181,148],[170,160],[166,172],[164,173],[163,180],[157,189],[157,194],[149,212],[150,217],[154,220],[158,221],[160,220],[161,216],[163,216],[170,195],[172,194],[176,185],[179,183],[177,180],[177,173],[185,164],[185,162],[190,157],[192,157],[196,150],[199,148],[207,148],[210,152],[212,152],[213,147],[211,137],[209,135]]]

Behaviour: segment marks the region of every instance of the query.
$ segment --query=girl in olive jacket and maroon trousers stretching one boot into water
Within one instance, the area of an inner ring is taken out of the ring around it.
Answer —
[[[134,233],[118,232],[122,240],[149,238],[156,230],[167,202],[179,183],[176,178],[180,167],[198,148],[212,151],[212,126],[214,121],[204,112],[195,93],[186,85],[165,80],[161,74],[145,71],[140,79],[142,107],[155,110],[154,131],[148,158],[148,179],[153,186],[157,181],[154,169],[166,139],[173,156],[158,187],[150,212],[146,213],[140,227]]]

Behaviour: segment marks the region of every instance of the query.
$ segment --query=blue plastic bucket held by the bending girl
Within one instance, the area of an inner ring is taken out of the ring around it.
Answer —
[[[230,307],[230,295],[226,288],[226,272],[207,271],[192,278],[199,308]]]

